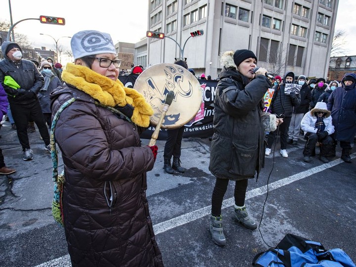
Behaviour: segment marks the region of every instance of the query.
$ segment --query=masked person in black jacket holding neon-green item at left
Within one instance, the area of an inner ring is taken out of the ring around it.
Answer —
[[[17,136],[23,150],[23,160],[33,159],[27,134],[30,121],[34,121],[50,151],[48,129],[41,110],[37,93],[44,85],[44,78],[30,60],[22,59],[22,49],[14,42],[3,42],[1,45],[4,59],[0,61],[0,83],[5,89],[12,117],[15,121]],[[7,81],[13,79],[17,86],[9,86]]]

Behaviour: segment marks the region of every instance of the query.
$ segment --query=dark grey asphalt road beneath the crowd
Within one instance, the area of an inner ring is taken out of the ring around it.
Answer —
[[[3,122],[0,135],[5,163],[17,170],[0,176],[0,266],[70,266],[63,228],[51,216],[52,165],[39,132],[29,134],[35,155],[26,162],[8,122]],[[142,144],[148,141],[142,139]],[[302,136],[297,146],[287,148],[288,158],[279,154],[278,141],[258,181],[249,180],[246,206],[260,227],[251,231],[231,220],[230,182],[223,203],[227,245],[218,247],[209,234],[215,182],[208,170],[209,139],[183,139],[181,161],[187,171],[182,175],[163,172],[164,143],[157,141],[159,153],[148,173],[147,198],[166,267],[251,266],[258,252],[267,250],[267,244],[276,246],[286,233],[319,241],[327,249],[341,248],[356,262],[355,148],[351,164],[339,159],[339,147],[330,163],[317,157],[305,163]]]

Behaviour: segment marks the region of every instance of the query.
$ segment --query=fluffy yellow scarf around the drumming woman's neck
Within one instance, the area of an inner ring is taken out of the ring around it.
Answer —
[[[138,126],[149,126],[149,117],[153,114],[151,106],[142,94],[135,89],[124,87],[119,80],[113,81],[88,67],[73,63],[67,64],[62,73],[62,79],[67,84],[88,93],[105,106],[132,105],[134,114],[131,120]]]

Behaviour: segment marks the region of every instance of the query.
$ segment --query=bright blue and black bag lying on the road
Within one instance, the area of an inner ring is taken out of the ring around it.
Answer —
[[[356,267],[341,249],[326,250],[315,241],[286,234],[275,248],[255,256],[256,267]]]

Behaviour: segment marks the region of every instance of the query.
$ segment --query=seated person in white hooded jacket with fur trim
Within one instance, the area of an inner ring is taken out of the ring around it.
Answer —
[[[316,142],[320,142],[319,160],[328,163],[326,156],[330,153],[334,142],[330,136],[334,133],[334,126],[326,103],[317,102],[315,107],[304,115],[301,127],[307,140],[303,151],[303,161],[311,161],[311,156],[315,155]]]

